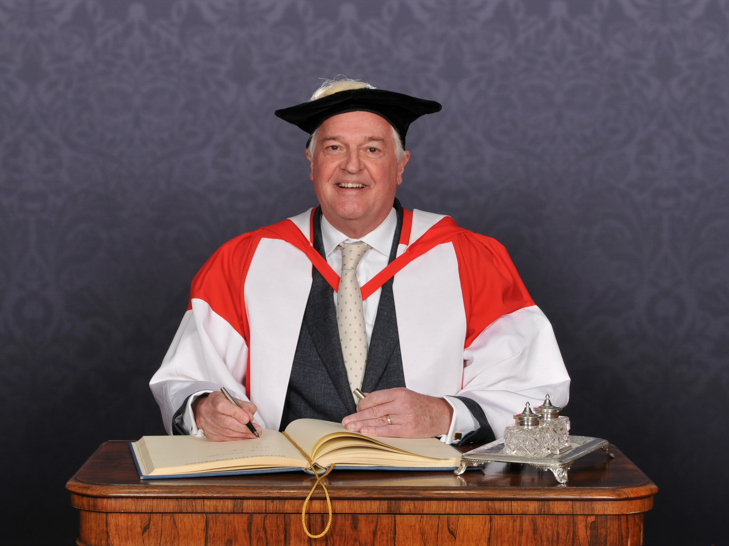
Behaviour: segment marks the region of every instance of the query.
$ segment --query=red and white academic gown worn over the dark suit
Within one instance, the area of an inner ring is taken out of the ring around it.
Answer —
[[[195,392],[226,387],[278,430],[312,264],[339,277],[313,249],[313,210],[225,243],[192,281],[190,305],[150,381],[165,427]],[[395,259],[362,286],[367,298],[394,275],[405,385],[472,398],[496,438],[551,395],[569,400],[569,376],[552,327],[531,301],[506,249],[448,216],[404,211]]]

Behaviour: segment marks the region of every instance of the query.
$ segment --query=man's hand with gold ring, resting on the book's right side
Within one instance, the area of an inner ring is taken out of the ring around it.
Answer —
[[[357,413],[346,416],[342,424],[370,436],[433,438],[448,434],[452,418],[453,407],[443,398],[397,388],[366,395],[359,400]]]

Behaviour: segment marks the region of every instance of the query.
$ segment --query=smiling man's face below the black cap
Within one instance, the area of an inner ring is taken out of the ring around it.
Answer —
[[[321,212],[340,231],[361,237],[389,214],[410,152],[398,162],[391,125],[357,111],[322,123],[314,157],[308,150],[306,157]]]

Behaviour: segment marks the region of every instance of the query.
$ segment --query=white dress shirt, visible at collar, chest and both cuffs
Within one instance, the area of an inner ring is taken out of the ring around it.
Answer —
[[[330,264],[335,272],[342,272],[342,252],[338,248],[343,242],[362,241],[370,245],[370,250],[364,254],[357,266],[357,280],[359,285],[364,286],[366,282],[375,277],[388,264],[390,258],[390,250],[392,248],[392,240],[397,229],[397,213],[392,209],[387,218],[377,226],[372,232],[360,237],[359,239],[350,239],[345,234],[336,229],[332,224],[321,216],[321,237],[324,242],[324,256],[327,263]],[[362,311],[364,312],[364,328],[367,332],[367,347],[370,345],[372,331],[375,326],[375,318],[377,317],[377,308],[380,304],[380,295],[382,288],[378,288],[369,298],[362,302]],[[334,293],[334,304],[337,304],[337,293]],[[187,411],[184,413],[182,423],[185,430],[190,430],[192,435],[202,435],[202,430],[198,430],[195,426],[195,418],[192,414],[192,401],[209,390],[195,392],[187,400]],[[453,435],[455,432],[461,432],[466,435],[472,430],[478,428],[478,422],[472,416],[466,405],[454,396],[441,396],[453,407],[453,419],[451,419],[451,427],[448,434],[440,437],[445,443],[453,443]]]

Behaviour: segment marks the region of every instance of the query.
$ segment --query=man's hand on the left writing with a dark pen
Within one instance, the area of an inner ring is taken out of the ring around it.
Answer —
[[[203,429],[208,440],[214,442],[227,442],[230,440],[244,440],[256,438],[246,427],[247,422],[253,422],[256,405],[246,400],[235,398],[242,408],[227,401],[222,392],[211,392],[207,396],[200,396],[192,403],[192,414],[198,429]],[[258,433],[261,427],[253,423]]]

